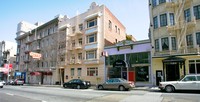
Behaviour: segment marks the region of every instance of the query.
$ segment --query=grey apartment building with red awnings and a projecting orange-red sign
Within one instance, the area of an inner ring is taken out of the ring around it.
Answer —
[[[57,28],[60,17],[56,16],[44,24],[25,21],[18,24],[16,78],[30,84],[54,84],[58,81]]]

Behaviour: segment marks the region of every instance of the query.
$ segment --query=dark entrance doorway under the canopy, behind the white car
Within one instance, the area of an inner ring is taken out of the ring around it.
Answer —
[[[167,64],[166,65],[166,80],[176,81],[180,79],[178,64]]]

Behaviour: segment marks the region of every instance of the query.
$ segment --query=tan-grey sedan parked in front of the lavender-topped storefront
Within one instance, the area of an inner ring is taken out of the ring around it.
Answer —
[[[106,82],[97,85],[97,89],[118,89],[120,91],[129,90],[135,87],[134,82],[127,81],[123,78],[111,78]]]

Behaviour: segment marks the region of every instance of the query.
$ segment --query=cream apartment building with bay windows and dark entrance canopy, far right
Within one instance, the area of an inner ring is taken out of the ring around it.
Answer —
[[[199,0],[149,0],[155,85],[200,73],[199,8]]]

